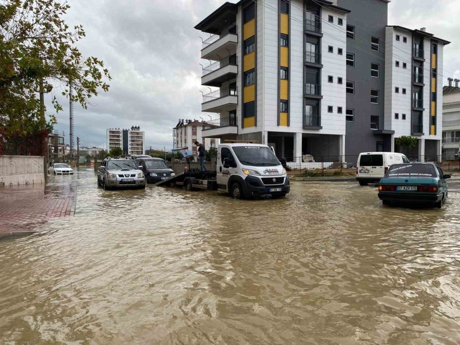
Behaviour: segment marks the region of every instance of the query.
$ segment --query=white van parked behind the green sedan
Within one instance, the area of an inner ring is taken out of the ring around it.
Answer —
[[[410,163],[402,153],[362,152],[356,165],[356,180],[361,186],[366,186],[367,183],[378,183],[390,166],[402,163]]]

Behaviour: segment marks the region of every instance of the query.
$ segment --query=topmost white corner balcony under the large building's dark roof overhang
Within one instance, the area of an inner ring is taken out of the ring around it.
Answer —
[[[238,27],[232,26],[223,30],[220,35],[212,35],[203,41],[201,58],[208,60],[220,60],[220,56],[235,54],[238,44]]]

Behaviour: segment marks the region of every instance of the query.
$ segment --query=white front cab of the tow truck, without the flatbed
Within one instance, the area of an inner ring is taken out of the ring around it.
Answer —
[[[217,148],[217,190],[235,199],[290,191],[289,177],[277,156],[262,144],[220,144]]]

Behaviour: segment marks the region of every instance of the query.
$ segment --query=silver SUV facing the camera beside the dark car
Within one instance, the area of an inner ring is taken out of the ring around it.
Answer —
[[[104,189],[145,188],[145,176],[133,160],[108,157],[98,168],[98,185]]]

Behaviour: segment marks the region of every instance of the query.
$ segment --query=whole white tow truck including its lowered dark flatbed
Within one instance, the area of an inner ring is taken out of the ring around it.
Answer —
[[[161,187],[229,193],[235,199],[284,197],[289,176],[273,151],[263,144],[228,143],[217,147],[217,171],[189,170],[156,183]]]

